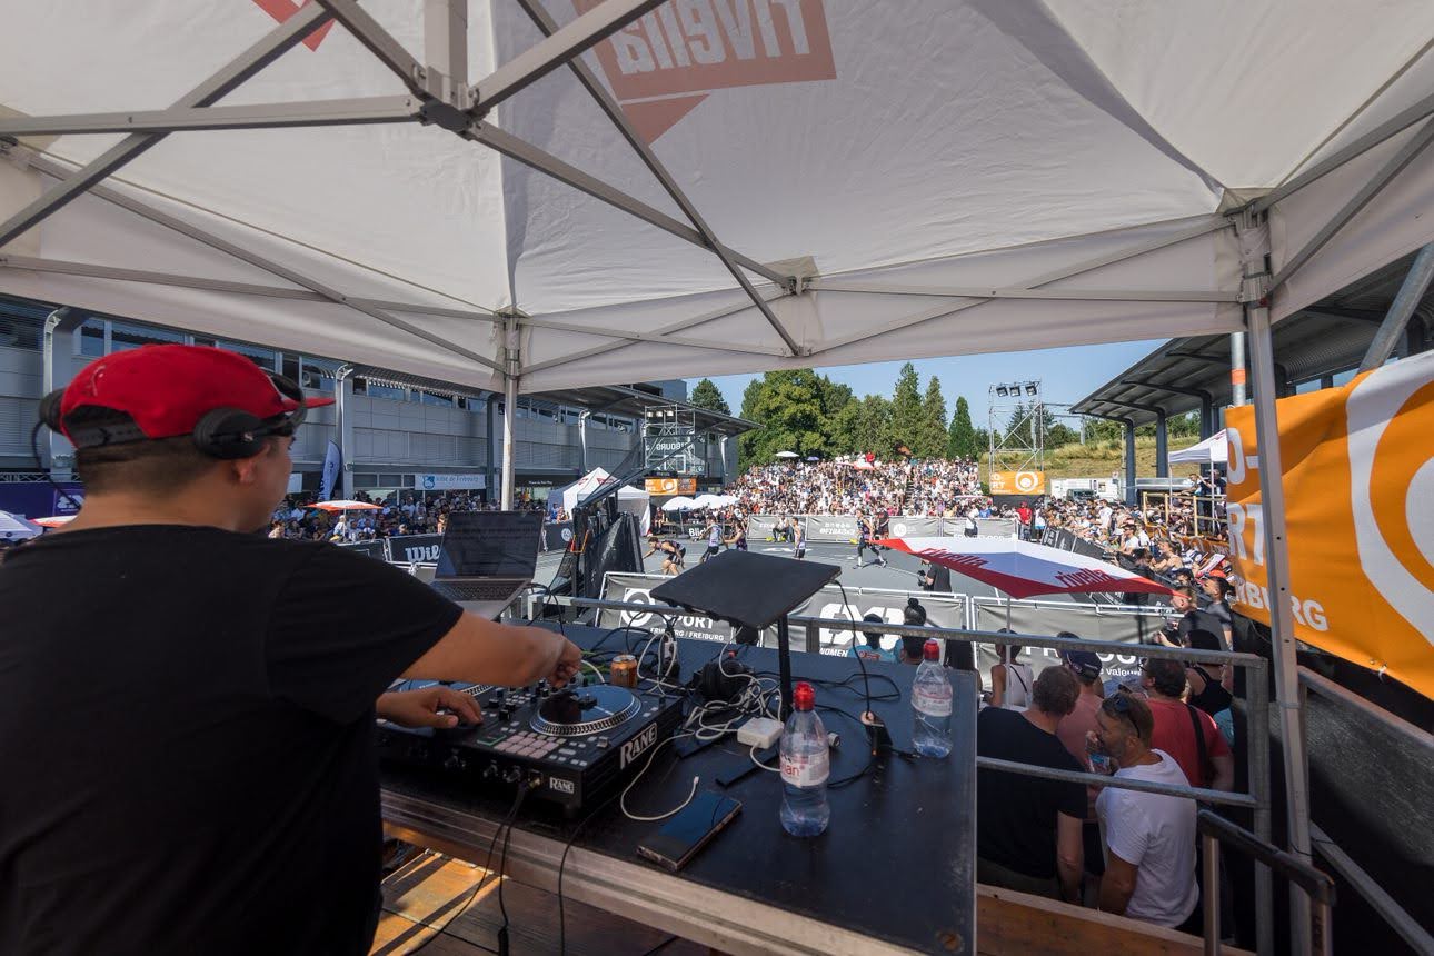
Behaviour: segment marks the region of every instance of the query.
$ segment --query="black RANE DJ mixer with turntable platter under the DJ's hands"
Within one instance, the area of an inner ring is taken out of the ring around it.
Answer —
[[[678,697],[645,697],[607,684],[561,691],[545,681],[518,689],[450,687],[478,701],[483,722],[410,730],[379,721],[380,760],[442,768],[485,790],[512,791],[528,781],[536,784],[529,798],[556,803],[568,814],[630,778],[634,764],[683,721]]]

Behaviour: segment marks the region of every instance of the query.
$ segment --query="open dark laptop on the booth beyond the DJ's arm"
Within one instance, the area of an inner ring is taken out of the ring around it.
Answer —
[[[532,583],[542,515],[450,512],[429,585],[465,611],[496,618]]]

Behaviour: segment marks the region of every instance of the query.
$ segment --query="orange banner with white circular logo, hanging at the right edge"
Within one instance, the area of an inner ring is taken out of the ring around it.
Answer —
[[[1434,353],[1276,407],[1295,636],[1434,697]],[[1232,603],[1269,623],[1255,410],[1225,421]]]

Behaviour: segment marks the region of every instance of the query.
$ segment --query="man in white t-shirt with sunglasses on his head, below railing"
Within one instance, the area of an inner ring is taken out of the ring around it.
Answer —
[[[1154,718],[1146,702],[1114,694],[1096,715],[1101,750],[1120,767],[1116,777],[1189,785],[1163,750],[1150,750]],[[1106,841],[1100,909],[1131,919],[1199,932],[1195,881],[1195,801],[1107,787],[1096,798]]]

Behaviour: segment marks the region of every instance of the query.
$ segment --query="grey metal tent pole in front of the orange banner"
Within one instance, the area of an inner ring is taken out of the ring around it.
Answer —
[[[1258,225],[1246,215],[1243,229]],[[1265,251],[1268,255],[1268,232]],[[1285,806],[1289,851],[1306,863],[1309,853],[1309,793],[1305,728],[1299,708],[1299,661],[1289,589],[1289,539],[1285,525],[1283,464],[1279,421],[1275,408],[1275,343],[1269,320],[1269,271],[1265,257],[1245,262],[1245,321],[1249,327],[1250,367],[1255,391],[1255,453],[1259,456],[1260,506],[1265,516],[1265,580],[1269,591],[1269,621],[1275,665],[1275,705],[1279,717],[1281,750],[1285,758]],[[1293,883],[1289,887],[1291,950],[1311,947],[1309,896]]]

